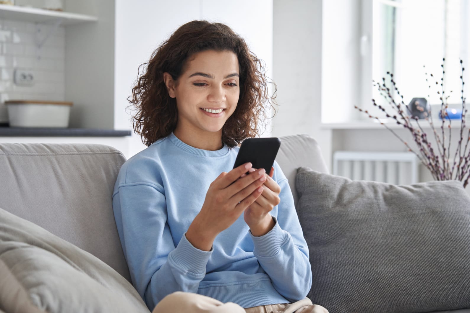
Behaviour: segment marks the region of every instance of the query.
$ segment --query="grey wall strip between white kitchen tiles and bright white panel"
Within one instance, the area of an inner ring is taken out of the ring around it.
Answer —
[[[65,30],[65,98],[74,103],[71,127],[113,129],[114,2],[65,1],[71,12],[98,17]]]

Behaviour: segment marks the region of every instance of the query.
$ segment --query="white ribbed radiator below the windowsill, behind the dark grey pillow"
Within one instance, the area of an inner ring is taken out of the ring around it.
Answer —
[[[417,183],[418,164],[418,158],[411,152],[337,151],[333,154],[333,174],[353,180]]]

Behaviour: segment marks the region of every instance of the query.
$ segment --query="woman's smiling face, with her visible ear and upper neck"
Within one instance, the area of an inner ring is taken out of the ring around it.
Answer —
[[[218,138],[220,145],[222,127],[234,113],[240,96],[236,54],[214,50],[196,53],[177,81],[168,73],[164,73],[164,81],[178,107],[174,134],[186,143],[183,138]]]

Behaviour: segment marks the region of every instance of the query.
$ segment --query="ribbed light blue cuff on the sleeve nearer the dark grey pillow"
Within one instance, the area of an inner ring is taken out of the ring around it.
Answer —
[[[279,226],[277,219],[273,216],[275,221],[273,229],[271,229],[266,235],[255,237],[251,234],[253,239],[253,253],[257,256],[269,258],[276,255],[283,244],[289,240],[289,233],[284,231]]]

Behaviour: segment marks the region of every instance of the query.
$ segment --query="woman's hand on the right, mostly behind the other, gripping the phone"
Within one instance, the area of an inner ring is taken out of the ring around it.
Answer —
[[[243,215],[251,234],[256,237],[267,234],[275,224],[270,212],[281,202],[279,198],[281,187],[274,181],[273,175],[274,168],[271,168],[269,176],[265,175],[266,181],[261,196],[245,210]]]

